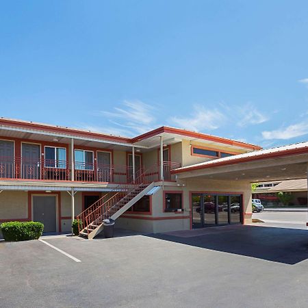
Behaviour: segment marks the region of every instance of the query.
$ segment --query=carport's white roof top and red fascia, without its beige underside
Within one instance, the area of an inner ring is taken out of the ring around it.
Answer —
[[[308,153],[308,142],[300,142],[296,144],[290,144],[287,146],[279,146],[272,149],[264,149],[260,151],[253,151],[250,153],[244,153],[240,155],[233,155],[229,157],[223,157],[213,159],[211,161],[185,166],[172,170],[172,173],[183,173],[193,170],[202,170],[205,168],[213,168],[218,166],[227,166],[233,164],[240,164],[246,162],[253,162],[261,159],[273,159],[279,157],[286,157],[292,155],[306,154]]]

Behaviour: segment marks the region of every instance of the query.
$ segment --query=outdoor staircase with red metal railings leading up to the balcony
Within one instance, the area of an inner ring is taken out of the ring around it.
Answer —
[[[153,172],[146,170],[129,184],[120,184],[77,216],[79,235],[92,240],[103,230],[103,220],[116,220],[154,187]],[[150,177],[149,177],[150,175]]]

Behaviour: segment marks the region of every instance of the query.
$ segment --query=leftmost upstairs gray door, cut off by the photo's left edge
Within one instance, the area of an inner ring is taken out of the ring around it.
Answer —
[[[0,177],[14,178],[14,142],[0,140]]]

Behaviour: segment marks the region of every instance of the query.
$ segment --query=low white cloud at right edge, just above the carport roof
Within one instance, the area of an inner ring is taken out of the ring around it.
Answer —
[[[291,139],[299,136],[304,136],[308,133],[307,121],[301,122],[288,127],[275,129],[273,131],[262,131],[262,137],[266,140],[271,139]]]

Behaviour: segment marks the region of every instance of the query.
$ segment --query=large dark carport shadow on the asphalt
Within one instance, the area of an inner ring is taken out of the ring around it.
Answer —
[[[233,225],[147,236],[284,264],[308,259],[307,230]]]

